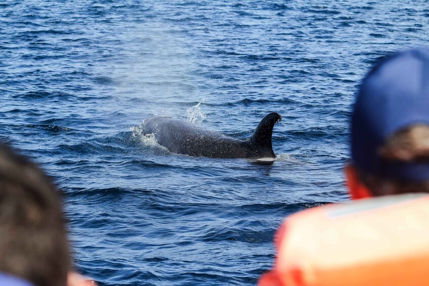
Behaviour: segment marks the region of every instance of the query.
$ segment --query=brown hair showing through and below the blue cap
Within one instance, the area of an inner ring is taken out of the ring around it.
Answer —
[[[394,162],[429,162],[429,126],[413,125],[387,138],[378,150],[379,156]],[[361,181],[375,196],[429,192],[429,181],[413,182],[385,178],[359,171]]]

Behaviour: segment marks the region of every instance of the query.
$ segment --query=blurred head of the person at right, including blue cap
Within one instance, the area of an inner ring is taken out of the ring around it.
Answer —
[[[396,53],[364,78],[351,149],[354,198],[429,192],[429,50]]]

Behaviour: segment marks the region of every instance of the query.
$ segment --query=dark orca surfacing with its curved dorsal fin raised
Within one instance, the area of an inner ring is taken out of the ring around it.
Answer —
[[[240,140],[201,128],[189,121],[153,116],[144,121],[142,134],[153,134],[158,144],[170,152],[209,158],[272,158],[272,129],[282,116],[277,112],[266,115],[253,135]]]

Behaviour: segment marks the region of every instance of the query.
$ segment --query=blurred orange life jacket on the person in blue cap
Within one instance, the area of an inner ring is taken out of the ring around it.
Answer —
[[[429,195],[339,203],[290,216],[260,286],[429,285]]]

